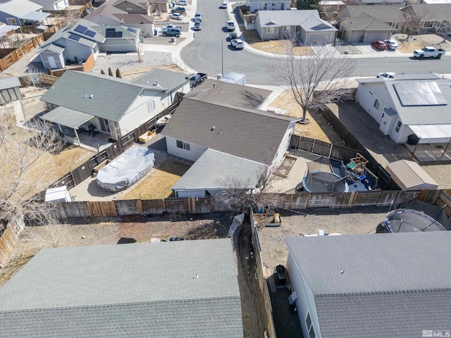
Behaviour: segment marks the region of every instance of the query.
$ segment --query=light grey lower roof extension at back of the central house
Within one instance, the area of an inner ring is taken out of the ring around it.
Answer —
[[[261,163],[206,149],[171,189],[220,189],[233,179],[245,183],[243,188],[254,189],[266,168]]]

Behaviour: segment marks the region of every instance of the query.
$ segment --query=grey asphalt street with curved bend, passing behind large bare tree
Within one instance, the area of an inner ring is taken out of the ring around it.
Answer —
[[[222,73],[242,73],[249,84],[277,84],[268,70],[278,62],[270,57],[247,51],[236,51],[228,42],[223,27],[229,20],[228,9],[219,8],[221,1],[197,0],[197,11],[202,13],[202,31],[181,51],[181,58],[192,69],[216,77]],[[230,8],[230,6],[229,6]],[[193,8],[194,11],[194,8]],[[189,34],[192,34],[191,31]],[[222,46],[221,46],[222,44]],[[395,73],[451,73],[451,56],[441,60],[419,60],[409,56],[397,58],[354,58],[351,77],[373,76],[383,72]]]

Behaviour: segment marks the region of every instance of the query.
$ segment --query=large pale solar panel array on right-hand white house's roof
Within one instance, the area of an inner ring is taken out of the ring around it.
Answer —
[[[446,104],[437,82],[400,82],[393,84],[402,106],[443,106]]]

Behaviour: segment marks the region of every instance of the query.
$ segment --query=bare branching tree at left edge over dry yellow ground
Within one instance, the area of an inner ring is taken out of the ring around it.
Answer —
[[[19,217],[37,225],[54,218],[55,205],[43,204],[37,192],[46,188],[52,161],[49,153],[61,150],[61,142],[51,125],[40,121],[15,125],[12,108],[0,114],[0,220],[7,223]]]

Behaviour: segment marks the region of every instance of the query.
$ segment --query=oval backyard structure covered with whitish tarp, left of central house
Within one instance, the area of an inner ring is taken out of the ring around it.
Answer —
[[[154,167],[155,155],[140,146],[126,150],[97,174],[97,184],[108,192],[120,192],[140,180]]]

